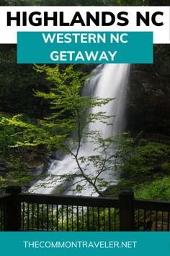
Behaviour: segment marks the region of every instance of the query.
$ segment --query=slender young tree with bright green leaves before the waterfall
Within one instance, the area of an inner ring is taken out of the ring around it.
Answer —
[[[56,180],[61,183],[70,182],[81,191],[86,186],[102,195],[102,190],[110,182],[102,174],[113,169],[115,158],[112,150],[112,138],[104,138],[101,131],[89,128],[89,124],[96,121],[109,124],[111,116],[107,116],[102,108],[97,113],[89,111],[93,107],[102,107],[112,101],[112,98],[91,98],[80,94],[87,78],[84,73],[73,69],[73,65],[61,69],[55,67],[35,66],[37,72],[45,72],[47,80],[53,82],[50,93],[35,91],[35,96],[50,101],[51,115],[37,124],[23,122],[21,116],[12,119],[2,119],[1,125],[12,125],[22,129],[22,136],[15,142],[16,147],[47,145],[49,149],[60,149],[71,155],[77,165],[73,170],[63,175],[51,175],[48,179],[50,185],[55,187]],[[89,143],[93,150],[89,155],[83,155],[81,149]],[[82,183],[83,182],[83,183]],[[43,184],[45,185],[45,184]]]

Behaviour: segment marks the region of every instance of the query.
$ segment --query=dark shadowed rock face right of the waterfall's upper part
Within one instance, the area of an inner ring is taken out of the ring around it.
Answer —
[[[158,46],[159,47],[159,46]],[[128,129],[170,134],[170,46],[160,46],[154,64],[131,66],[128,83]]]

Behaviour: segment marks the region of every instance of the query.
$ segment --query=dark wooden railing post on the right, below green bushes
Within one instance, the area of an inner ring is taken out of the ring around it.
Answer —
[[[120,192],[120,231],[134,231],[133,191]]]

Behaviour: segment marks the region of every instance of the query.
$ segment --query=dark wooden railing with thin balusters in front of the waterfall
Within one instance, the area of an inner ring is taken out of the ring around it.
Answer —
[[[21,193],[9,187],[0,197],[1,231],[169,231],[170,202]]]

